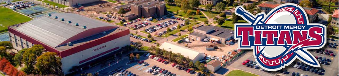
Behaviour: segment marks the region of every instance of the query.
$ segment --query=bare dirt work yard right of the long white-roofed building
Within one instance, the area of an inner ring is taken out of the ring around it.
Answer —
[[[179,45],[185,46],[186,44],[188,44],[188,48],[192,48],[192,49],[197,50],[198,52],[205,53],[207,54],[207,56],[211,55],[211,56],[217,56],[219,58],[221,58],[222,55],[224,56],[227,55],[228,52],[232,52],[233,50],[238,49],[238,44],[228,46],[228,45],[223,45],[223,44],[213,44],[210,42],[199,42],[199,41],[191,41],[191,43],[184,43],[184,44],[179,44]],[[206,50],[205,47],[210,46],[210,45],[218,46],[219,49]]]

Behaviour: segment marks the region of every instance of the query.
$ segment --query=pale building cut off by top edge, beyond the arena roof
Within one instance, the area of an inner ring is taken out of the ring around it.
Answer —
[[[48,0],[48,1],[52,1],[52,2],[55,2],[55,3],[59,3],[59,4],[62,4],[62,5],[72,7],[72,6],[78,6],[78,5],[81,5],[81,4],[96,2],[96,1],[99,1],[99,0]]]

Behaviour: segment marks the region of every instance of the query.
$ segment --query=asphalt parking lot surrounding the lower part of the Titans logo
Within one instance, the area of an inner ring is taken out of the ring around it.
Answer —
[[[338,44],[337,40],[336,41],[328,40],[327,42]],[[338,55],[337,54],[338,49],[328,48],[327,45],[325,45],[323,49],[333,51],[335,55]],[[310,51],[310,52],[314,55],[314,57],[326,57],[326,59],[330,59],[332,61],[332,62],[329,62],[330,65],[320,64],[321,68],[325,70],[325,72],[323,72],[322,76],[336,76],[336,75],[338,75],[338,57],[333,57],[333,56],[330,56],[330,55],[316,53],[316,51]],[[279,73],[279,72],[276,72],[276,71],[268,73],[268,72],[265,72],[265,71],[261,71],[260,69],[250,68],[250,67],[246,67],[246,66],[242,65],[241,63],[244,62],[247,59],[252,60],[252,61],[255,60],[255,58],[253,57],[252,51],[245,53],[242,57],[237,59],[235,62],[231,63],[230,65],[227,65],[226,68],[227,69],[241,69],[241,70],[248,71],[248,72],[251,72],[251,73],[255,73],[255,74],[258,74],[258,75],[261,75],[261,76],[272,76],[272,75],[275,75],[275,74],[282,74],[282,73]],[[301,61],[299,61],[298,59],[296,59],[295,62],[301,63]],[[300,75],[303,74],[303,75],[308,75],[308,76],[321,76],[321,75],[318,75],[316,73],[312,73],[310,71],[304,71],[302,69],[293,68],[293,67],[289,67],[289,66],[286,66],[286,68],[284,68],[283,70],[287,70],[288,72],[290,72],[289,74],[282,74],[282,75],[286,75],[286,76],[290,76],[293,72],[299,73]]]

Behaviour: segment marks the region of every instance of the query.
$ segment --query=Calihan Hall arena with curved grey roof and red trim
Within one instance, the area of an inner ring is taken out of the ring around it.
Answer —
[[[48,14],[8,27],[17,50],[42,45],[61,57],[64,74],[74,66],[90,66],[104,56],[115,56],[130,44],[129,29],[73,13]]]

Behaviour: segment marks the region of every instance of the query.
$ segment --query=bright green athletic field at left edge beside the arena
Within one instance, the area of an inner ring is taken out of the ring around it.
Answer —
[[[31,18],[14,12],[12,9],[0,8],[0,30],[7,29],[7,26],[30,21]]]

